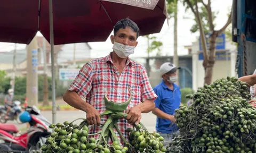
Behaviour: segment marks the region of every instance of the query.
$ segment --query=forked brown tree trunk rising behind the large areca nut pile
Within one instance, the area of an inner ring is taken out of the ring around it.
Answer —
[[[204,61],[203,66],[205,70],[205,84],[211,84],[212,82],[212,73],[213,66],[215,64],[215,53],[216,53],[216,40],[221,33],[225,31],[228,25],[231,23],[231,11],[228,17],[228,20],[223,25],[223,27],[219,30],[215,30],[214,19],[216,13],[212,12],[211,8],[211,0],[207,0],[205,3],[204,0],[183,0],[184,4],[186,4],[187,9],[190,9],[195,15],[196,25],[191,28],[192,32],[198,31],[201,37],[201,43],[203,47],[203,55]],[[198,4],[201,4],[202,7],[199,9]],[[206,39],[205,32],[210,32],[210,44],[209,44],[209,52],[207,52],[206,47]]]

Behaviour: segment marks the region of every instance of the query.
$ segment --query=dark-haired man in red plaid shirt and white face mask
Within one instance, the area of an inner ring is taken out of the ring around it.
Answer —
[[[101,131],[100,123],[107,120],[106,116],[99,116],[106,110],[105,94],[109,100],[122,103],[130,97],[129,88],[132,91],[132,100],[126,110],[127,120],[121,118],[118,121],[118,127],[127,140],[129,135],[125,130],[140,122],[141,113],[155,108],[157,96],[150,86],[145,67],[128,57],[134,53],[138,37],[137,24],[130,19],[118,21],[114,35],[110,37],[113,52],[86,63],[63,95],[66,103],[86,112],[90,125],[97,125],[89,126],[89,133]],[[99,134],[91,137],[97,139]]]

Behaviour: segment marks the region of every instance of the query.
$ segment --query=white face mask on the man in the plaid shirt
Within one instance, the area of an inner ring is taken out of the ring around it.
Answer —
[[[114,41],[113,50],[120,58],[126,58],[134,53],[135,46],[128,46]]]

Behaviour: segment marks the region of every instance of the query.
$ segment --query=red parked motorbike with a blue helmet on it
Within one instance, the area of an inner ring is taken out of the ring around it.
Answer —
[[[0,139],[4,141],[0,143],[0,150],[19,153],[39,152],[46,138],[52,133],[52,129],[49,128],[51,123],[40,114],[35,106],[25,107],[25,111],[20,114],[19,118],[22,123],[28,122],[30,128],[27,132],[18,135],[17,126],[0,123]]]

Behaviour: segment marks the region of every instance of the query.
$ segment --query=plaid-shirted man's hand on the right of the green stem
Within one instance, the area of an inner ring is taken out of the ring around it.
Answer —
[[[128,114],[126,117],[128,123],[134,125],[134,123],[137,122],[137,124],[139,124],[141,120],[141,112],[140,105],[127,109],[125,113]]]

